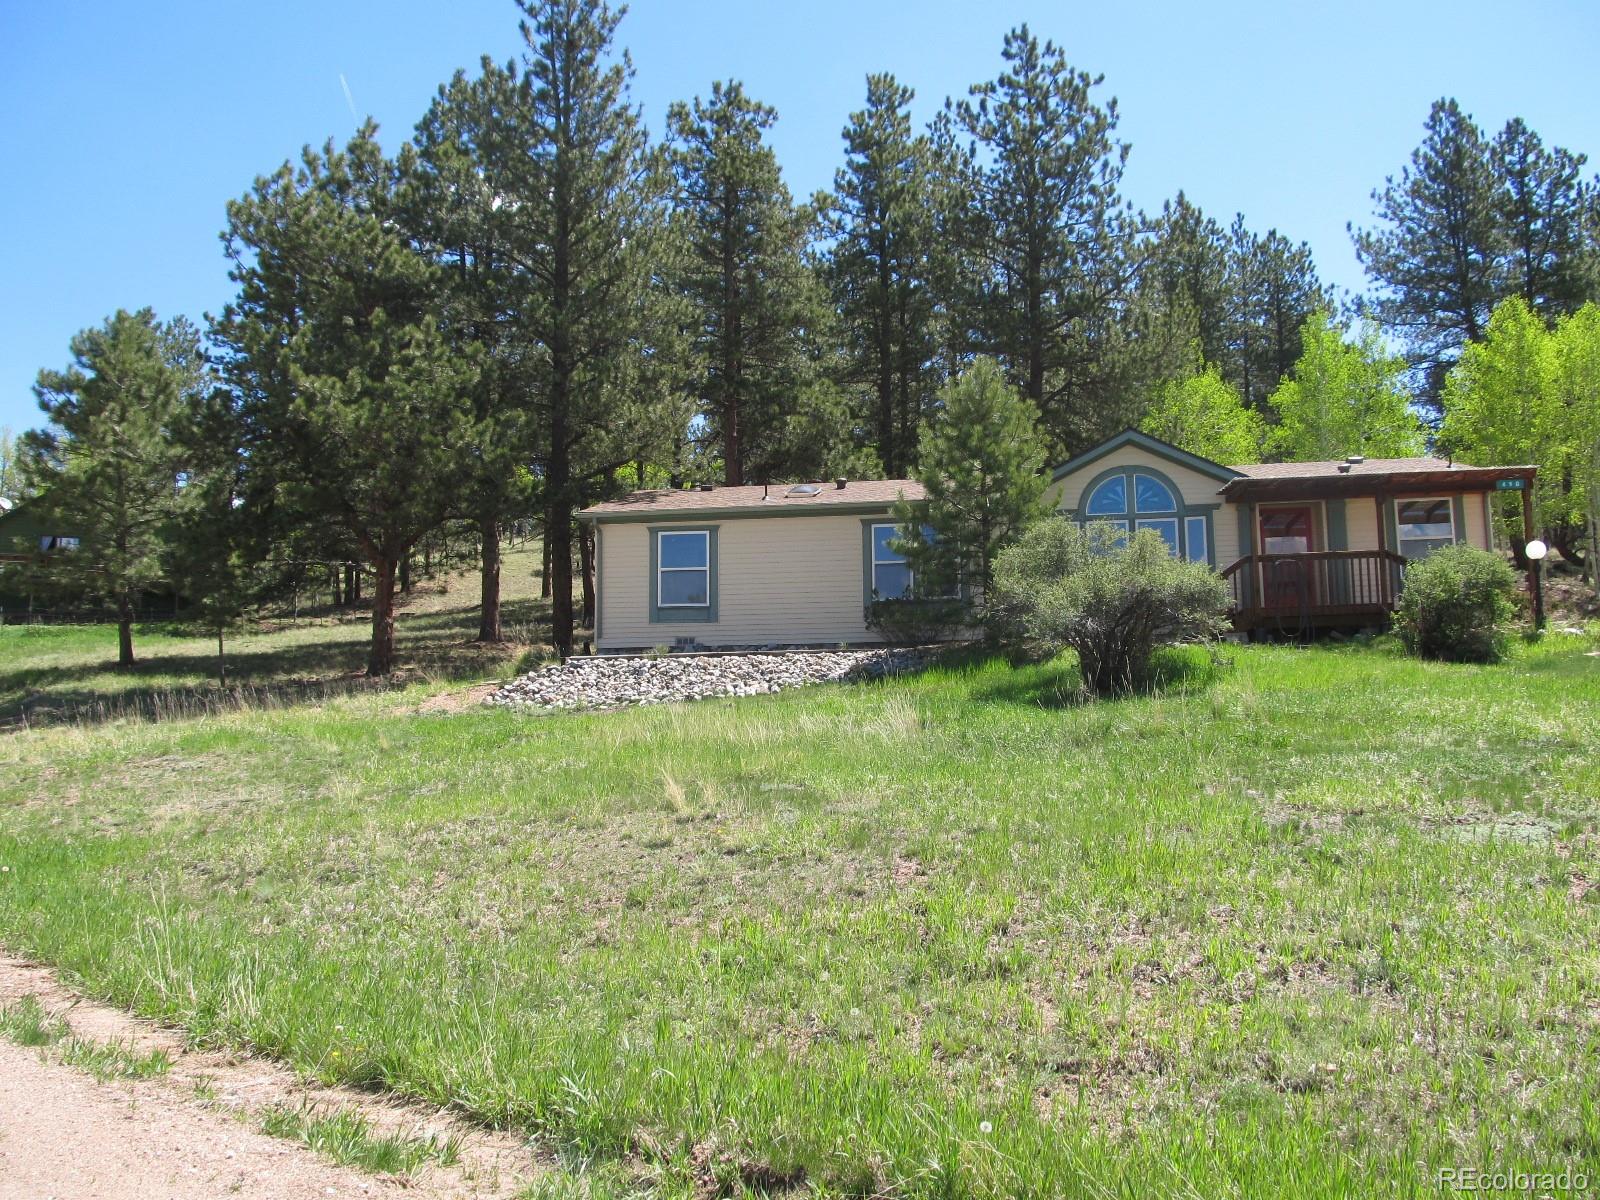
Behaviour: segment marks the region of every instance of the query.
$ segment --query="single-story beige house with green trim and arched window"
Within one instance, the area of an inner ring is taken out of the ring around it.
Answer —
[[[1125,430],[1050,472],[1070,520],[1154,530],[1227,582],[1243,632],[1376,626],[1405,565],[1491,549],[1491,498],[1534,467],[1438,458],[1224,466]],[[595,533],[602,653],[672,646],[867,645],[874,598],[910,595],[894,504],[915,480],[635,491],[581,514]]]

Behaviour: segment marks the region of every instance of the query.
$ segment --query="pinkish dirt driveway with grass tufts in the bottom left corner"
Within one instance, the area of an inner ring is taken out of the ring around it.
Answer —
[[[48,971],[0,955],[0,1006],[27,997],[62,1019],[70,1037],[139,1054],[162,1050],[173,1066],[152,1078],[101,1083],[50,1046],[0,1038],[0,1200],[490,1200],[539,1173],[517,1138],[363,1093],[307,1088],[248,1056],[186,1050],[173,1030],[83,1000]],[[363,1174],[261,1133],[259,1114],[283,1104],[354,1109],[381,1133],[458,1138],[461,1157],[403,1179]]]

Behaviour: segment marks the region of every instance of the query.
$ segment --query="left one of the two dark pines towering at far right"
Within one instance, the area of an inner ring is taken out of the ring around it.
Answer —
[[[1378,226],[1352,226],[1378,290],[1373,314],[1405,341],[1434,402],[1461,347],[1483,338],[1501,290],[1506,240],[1483,131],[1456,101],[1435,101],[1411,165],[1373,202]]]

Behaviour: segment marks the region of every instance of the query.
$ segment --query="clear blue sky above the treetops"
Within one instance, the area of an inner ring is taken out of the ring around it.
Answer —
[[[1366,221],[1437,96],[1490,130],[1522,115],[1600,155],[1600,5],[1584,0],[638,0],[619,40],[658,133],[667,104],[712,78],[776,106],[773,142],[806,195],[832,181],[869,70],[914,86],[926,118],[997,74],[1019,21],[1106,75],[1133,144],[1128,198],[1155,210],[1184,189],[1222,221],[1243,211],[1310,242],[1342,288],[1362,285],[1346,221]],[[392,149],[456,67],[514,54],[515,26],[512,0],[5,5],[0,426],[37,424],[37,371],[117,307],[221,309],[224,203],[304,142],[352,131],[341,74]]]

